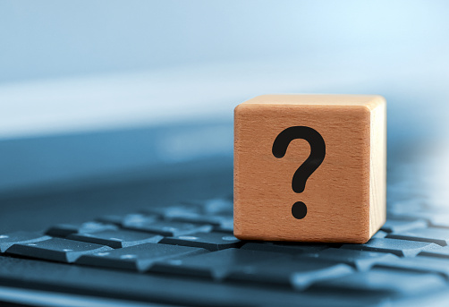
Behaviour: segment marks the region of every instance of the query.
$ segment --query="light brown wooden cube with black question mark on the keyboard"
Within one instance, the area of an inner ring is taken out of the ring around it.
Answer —
[[[366,243],[385,223],[380,96],[263,95],[234,111],[234,235]]]

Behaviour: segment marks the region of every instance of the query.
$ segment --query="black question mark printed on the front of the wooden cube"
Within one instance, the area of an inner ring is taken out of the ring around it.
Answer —
[[[310,155],[296,170],[292,178],[292,190],[301,193],[306,188],[309,176],[321,165],[326,156],[326,144],[321,134],[315,129],[305,126],[294,126],[279,133],[273,143],[273,156],[283,158],[291,141],[302,139],[309,142]],[[306,204],[297,201],[292,206],[292,215],[297,219],[304,218],[307,214]]]

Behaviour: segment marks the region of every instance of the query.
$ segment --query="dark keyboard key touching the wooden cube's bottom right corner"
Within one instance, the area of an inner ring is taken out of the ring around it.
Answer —
[[[343,249],[370,252],[391,252],[402,257],[414,257],[419,252],[428,251],[438,245],[397,239],[371,239],[364,244],[343,244]]]

